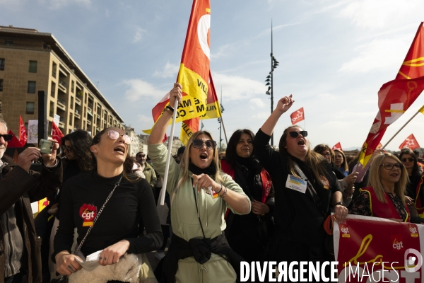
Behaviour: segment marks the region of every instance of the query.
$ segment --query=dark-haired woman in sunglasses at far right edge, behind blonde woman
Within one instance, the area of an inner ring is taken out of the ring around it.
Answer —
[[[418,214],[424,218],[424,192],[420,190],[423,168],[418,166],[418,158],[411,149],[402,149],[399,159],[408,171],[409,183],[406,185],[406,204],[415,206]],[[417,202],[416,202],[417,200]]]

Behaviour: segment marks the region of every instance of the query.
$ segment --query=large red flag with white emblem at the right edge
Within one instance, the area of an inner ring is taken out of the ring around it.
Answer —
[[[365,166],[387,127],[408,110],[424,89],[424,28],[420,23],[396,79],[384,83],[378,92],[379,112],[365,140],[359,162]]]

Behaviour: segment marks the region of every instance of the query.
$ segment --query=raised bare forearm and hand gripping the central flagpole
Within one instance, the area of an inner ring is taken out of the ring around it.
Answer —
[[[170,91],[170,106],[174,107],[175,99],[182,100],[182,86],[179,83],[174,83],[174,88]],[[174,109],[176,111],[176,109]],[[148,144],[161,144],[163,136],[165,136],[166,129],[170,119],[172,118],[172,110],[165,110],[153,126]]]

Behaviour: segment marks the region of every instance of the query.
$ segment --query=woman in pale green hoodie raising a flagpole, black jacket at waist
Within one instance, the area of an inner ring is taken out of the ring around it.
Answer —
[[[175,83],[170,105],[182,100]],[[174,109],[165,108],[148,139],[148,155],[155,170],[165,175],[167,149],[162,144]],[[181,162],[173,158],[167,175],[171,199],[172,235],[160,282],[236,282],[240,258],[223,235],[227,208],[250,212],[250,201],[232,178],[220,171],[216,141],[209,132],[195,132],[187,141]],[[246,247],[249,248],[249,247]]]

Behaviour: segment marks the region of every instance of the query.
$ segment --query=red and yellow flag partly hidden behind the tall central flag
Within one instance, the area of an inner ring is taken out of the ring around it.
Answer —
[[[222,113],[216,96],[215,86],[213,85],[212,74],[209,72],[208,100],[206,104],[206,113],[201,117],[192,118],[182,122],[180,139],[183,144],[187,145],[187,141],[193,133],[199,131],[199,120],[214,119],[221,117]]]

